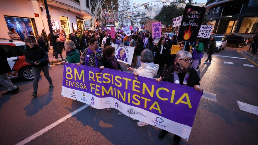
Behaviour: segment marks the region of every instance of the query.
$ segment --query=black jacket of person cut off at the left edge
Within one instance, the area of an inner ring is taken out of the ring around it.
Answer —
[[[0,74],[6,74],[11,71],[11,68],[8,64],[6,53],[5,51],[0,47]]]

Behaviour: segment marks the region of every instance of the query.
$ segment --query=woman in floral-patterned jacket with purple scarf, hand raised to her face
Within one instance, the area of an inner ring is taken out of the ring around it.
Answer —
[[[103,49],[99,47],[98,40],[96,38],[91,38],[91,40],[89,41],[89,47],[84,50],[81,62],[77,63],[77,65],[80,66],[80,64],[83,64],[104,69],[105,67],[100,61],[102,57]]]

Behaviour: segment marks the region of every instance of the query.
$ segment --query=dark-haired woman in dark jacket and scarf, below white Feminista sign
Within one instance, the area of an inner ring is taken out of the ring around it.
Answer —
[[[103,66],[105,68],[123,71],[122,67],[115,58],[115,47],[105,47],[105,49],[103,50],[103,58],[101,59],[101,62],[103,63]],[[107,108],[107,110],[110,111],[111,108]],[[122,114],[122,112],[118,112],[118,115]]]

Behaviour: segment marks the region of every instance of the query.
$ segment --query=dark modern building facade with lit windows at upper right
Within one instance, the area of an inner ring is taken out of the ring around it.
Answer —
[[[214,34],[240,35],[248,38],[258,33],[257,0],[208,0],[207,25]]]

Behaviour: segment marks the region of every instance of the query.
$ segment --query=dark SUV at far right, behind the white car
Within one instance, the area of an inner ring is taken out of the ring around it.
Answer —
[[[243,38],[242,36],[230,35],[226,36],[227,46],[233,46],[237,48],[242,48],[247,45],[248,40]]]

